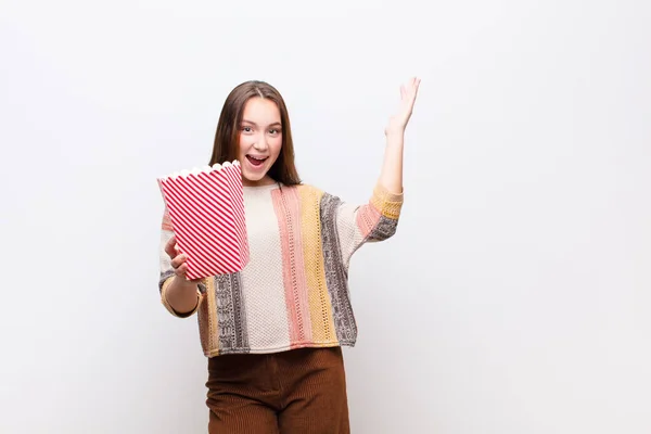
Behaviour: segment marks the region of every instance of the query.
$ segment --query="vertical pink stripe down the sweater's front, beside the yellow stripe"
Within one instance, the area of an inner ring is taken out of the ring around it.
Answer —
[[[280,229],[290,341],[297,347],[312,339],[301,235],[301,200],[297,190],[292,188],[273,190],[271,195]]]

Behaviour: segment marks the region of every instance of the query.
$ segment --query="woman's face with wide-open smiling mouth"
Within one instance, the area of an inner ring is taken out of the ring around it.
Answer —
[[[267,175],[282,148],[280,111],[273,101],[252,98],[246,102],[240,128],[238,159],[244,186],[266,186],[275,181]]]

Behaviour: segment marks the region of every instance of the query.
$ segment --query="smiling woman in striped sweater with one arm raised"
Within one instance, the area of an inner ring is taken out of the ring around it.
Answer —
[[[167,213],[162,230],[161,297],[175,316],[197,312],[209,433],[349,432],[341,346],[355,344],[357,327],[348,264],[363,243],[396,231],[419,85],[412,78],[400,88],[381,175],[361,206],[301,182],[288,110],[272,86],[247,81],[228,95],[210,165],[241,164],[250,263],[189,281]]]

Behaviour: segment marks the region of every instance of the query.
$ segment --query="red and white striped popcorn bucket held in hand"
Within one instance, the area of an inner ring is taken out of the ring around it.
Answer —
[[[158,178],[190,280],[241,271],[248,263],[240,163]]]

